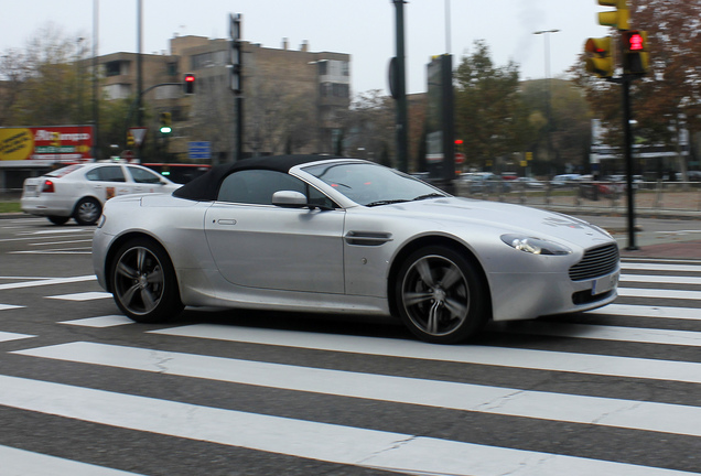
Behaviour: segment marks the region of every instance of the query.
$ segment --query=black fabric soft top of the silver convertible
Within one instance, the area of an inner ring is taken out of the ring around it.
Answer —
[[[271,170],[289,172],[293,166],[316,162],[324,159],[338,159],[328,155],[270,155],[252,159],[244,159],[238,162],[217,165],[204,175],[173,192],[173,196],[197,202],[213,202],[217,199],[222,181],[236,171],[241,170]]]

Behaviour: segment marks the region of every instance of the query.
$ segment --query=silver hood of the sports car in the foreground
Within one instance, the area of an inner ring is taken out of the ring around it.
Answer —
[[[613,239],[605,230],[579,218],[522,205],[462,197],[407,202],[384,207],[412,218],[433,221],[436,227],[492,228],[496,232],[524,234],[528,237],[567,241],[583,248],[607,244]]]

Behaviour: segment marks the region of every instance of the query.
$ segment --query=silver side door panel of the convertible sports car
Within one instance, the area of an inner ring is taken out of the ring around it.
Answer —
[[[248,288],[343,293],[345,212],[215,203],[207,242],[227,281]]]

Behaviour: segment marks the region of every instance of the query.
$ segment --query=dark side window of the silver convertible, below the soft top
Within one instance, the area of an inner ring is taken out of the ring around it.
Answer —
[[[282,172],[245,170],[234,172],[222,182],[219,202],[271,205],[272,194],[279,191],[306,193],[306,184]]]

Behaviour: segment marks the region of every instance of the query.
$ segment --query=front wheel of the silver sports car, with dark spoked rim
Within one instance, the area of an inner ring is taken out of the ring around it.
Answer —
[[[412,252],[395,282],[405,325],[417,337],[454,344],[476,334],[488,317],[487,286],[460,252],[431,246]]]

